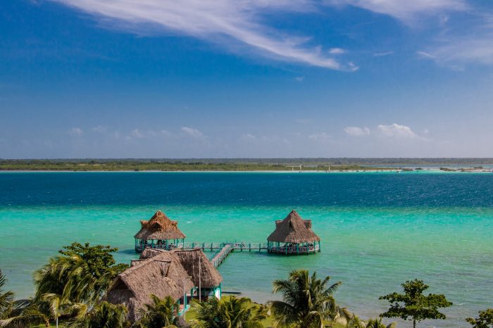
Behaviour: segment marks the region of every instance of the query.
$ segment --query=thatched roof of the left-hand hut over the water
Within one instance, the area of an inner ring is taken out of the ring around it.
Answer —
[[[151,217],[151,220],[140,221],[141,229],[135,238],[137,239],[182,239],[185,238],[185,234],[178,229],[177,221],[170,220],[166,214],[158,210],[156,214]]]

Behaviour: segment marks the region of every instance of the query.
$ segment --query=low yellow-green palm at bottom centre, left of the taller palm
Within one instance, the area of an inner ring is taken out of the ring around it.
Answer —
[[[194,308],[196,320],[190,324],[196,328],[261,328],[266,318],[266,309],[246,297],[211,297],[202,303],[194,301]]]

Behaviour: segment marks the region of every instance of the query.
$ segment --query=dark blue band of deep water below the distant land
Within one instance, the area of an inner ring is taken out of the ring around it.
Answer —
[[[493,207],[493,174],[2,172],[0,206]]]

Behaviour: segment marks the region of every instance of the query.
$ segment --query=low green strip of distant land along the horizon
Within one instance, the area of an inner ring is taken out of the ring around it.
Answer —
[[[300,166],[301,165],[301,166]],[[481,169],[493,158],[80,158],[0,159],[0,170],[23,171],[349,171],[411,170],[419,165]],[[442,170],[454,170],[442,168]]]

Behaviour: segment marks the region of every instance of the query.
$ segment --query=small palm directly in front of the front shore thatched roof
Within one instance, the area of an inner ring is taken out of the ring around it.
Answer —
[[[135,322],[135,327],[176,327],[175,321],[177,317],[175,317],[175,310],[179,306],[177,301],[171,296],[161,299],[151,294],[151,304],[146,304],[143,309],[140,309],[142,317]]]

